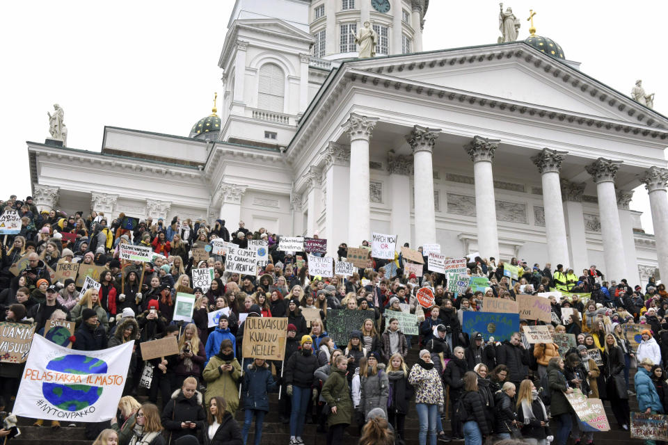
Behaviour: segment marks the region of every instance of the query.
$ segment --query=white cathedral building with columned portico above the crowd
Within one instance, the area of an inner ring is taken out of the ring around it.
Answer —
[[[105,127],[102,152],[29,142],[33,197],[40,209],[317,232],[332,253],[382,232],[452,257],[668,276],[668,119],[540,36],[422,52],[428,10],[237,0],[220,117],[189,137]],[[376,57],[356,58],[366,21]],[[655,236],[628,207],[641,184]]]

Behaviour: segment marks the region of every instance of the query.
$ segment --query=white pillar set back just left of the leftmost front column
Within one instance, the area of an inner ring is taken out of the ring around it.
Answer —
[[[330,142],[321,154],[324,158],[322,171],[325,175],[324,238],[327,238],[327,254],[335,257],[340,243],[351,245],[346,224],[350,201],[350,193],[346,186],[350,183],[350,149],[345,145]],[[367,190],[369,190],[368,185]]]

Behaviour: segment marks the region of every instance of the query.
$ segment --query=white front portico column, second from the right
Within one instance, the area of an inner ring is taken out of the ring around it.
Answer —
[[[617,193],[614,191],[614,177],[617,175],[619,164],[621,161],[598,158],[584,167],[596,182],[598,216],[601,218],[603,258],[605,259],[603,273],[608,280],[618,282],[626,275],[626,257],[617,211]]]

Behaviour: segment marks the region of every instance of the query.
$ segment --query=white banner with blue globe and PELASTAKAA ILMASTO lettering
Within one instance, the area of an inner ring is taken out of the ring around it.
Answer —
[[[102,422],[116,416],[134,341],[74,350],[35,335],[13,413],[32,419]]]

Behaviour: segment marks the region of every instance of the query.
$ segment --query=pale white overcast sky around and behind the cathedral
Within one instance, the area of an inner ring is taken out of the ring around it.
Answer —
[[[233,5],[2,2],[2,198],[30,193],[25,141],[49,136],[47,111],[55,103],[65,110],[72,148],[100,151],[104,125],[187,136],[211,113],[214,91],[222,90],[217,62]],[[626,95],[642,79],[656,93],[655,109],[668,114],[668,63],[657,50],[665,41],[668,2],[512,0],[505,6],[522,19],[520,39],[529,35],[526,17],[536,8],[537,33],[559,43],[583,72]],[[492,0],[431,0],[424,50],[496,42],[498,10]],[[652,232],[644,188],[637,188],[631,208],[645,212],[644,229]]]

